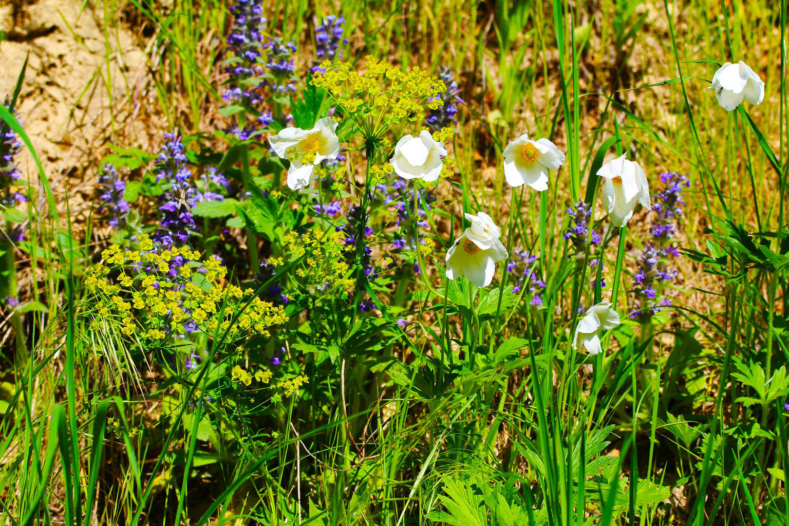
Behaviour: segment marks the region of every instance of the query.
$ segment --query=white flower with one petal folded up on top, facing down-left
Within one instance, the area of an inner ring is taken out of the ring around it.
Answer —
[[[495,263],[507,259],[507,248],[499,240],[501,229],[491,216],[466,214],[471,226],[447,251],[447,278],[466,276],[478,287],[487,287],[495,274]]]

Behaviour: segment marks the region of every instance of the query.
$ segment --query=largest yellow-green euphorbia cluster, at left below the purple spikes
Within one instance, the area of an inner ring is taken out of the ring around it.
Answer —
[[[203,330],[209,334],[230,331],[226,341],[251,336],[270,337],[272,326],[288,321],[282,306],[252,297],[254,290],[241,289],[219,280],[227,269],[214,257],[201,259],[189,248],[153,251],[147,237],[131,251],[117,244],[102,252],[103,263],[88,270],[86,285],[98,300],[92,326],[110,316],[122,319],[122,333],[136,338],[163,340],[167,334]],[[120,270],[110,279],[112,267]],[[200,283],[203,276],[205,284]],[[198,278],[198,279],[194,279]],[[237,315],[235,323],[234,317]]]

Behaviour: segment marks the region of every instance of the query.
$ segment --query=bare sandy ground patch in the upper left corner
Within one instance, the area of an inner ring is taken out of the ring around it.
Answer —
[[[69,196],[72,215],[89,211],[95,170],[110,143],[136,136],[145,147],[148,136],[137,119],[150,107],[146,54],[117,13],[107,18],[101,6],[80,0],[39,0],[17,9],[0,7],[0,98],[13,92],[29,55],[17,117],[39,154],[58,207]],[[39,186],[28,151],[19,155],[23,173]],[[40,186],[39,186],[40,188]],[[36,203],[43,206],[43,192]]]

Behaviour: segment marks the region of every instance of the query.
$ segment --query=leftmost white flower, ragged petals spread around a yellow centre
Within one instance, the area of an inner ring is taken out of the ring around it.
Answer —
[[[282,159],[290,160],[288,186],[298,190],[315,181],[315,166],[323,159],[337,159],[340,141],[337,138],[337,121],[322,118],[313,129],[284,128],[268,140]]]

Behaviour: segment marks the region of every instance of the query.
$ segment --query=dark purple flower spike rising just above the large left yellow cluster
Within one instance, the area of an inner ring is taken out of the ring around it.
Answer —
[[[164,136],[167,141],[159,152],[156,160],[156,181],[167,181],[163,196],[159,200],[164,204],[162,225],[157,230],[154,241],[163,247],[170,248],[176,243],[186,243],[196,229],[192,208],[195,205],[195,188],[190,181],[192,172],[184,154],[181,137],[175,133]]]

